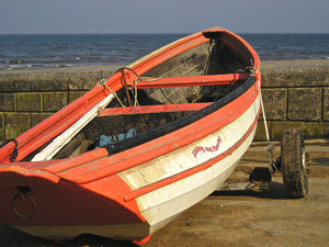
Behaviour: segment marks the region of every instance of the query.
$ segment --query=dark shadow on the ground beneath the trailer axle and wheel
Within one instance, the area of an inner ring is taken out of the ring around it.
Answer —
[[[250,197],[259,199],[290,199],[285,186],[272,181],[266,190],[216,190],[211,197]]]

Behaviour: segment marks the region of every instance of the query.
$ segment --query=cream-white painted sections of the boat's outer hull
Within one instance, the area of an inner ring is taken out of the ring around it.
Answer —
[[[157,177],[157,181],[161,180],[159,177],[173,177],[174,175],[181,173],[182,170],[189,170],[193,167],[202,166],[204,164],[203,160],[211,162],[207,168],[202,169],[192,176],[136,198],[138,210],[145,218],[145,222],[140,221],[134,224],[126,223],[112,225],[98,225],[92,222],[88,224],[88,222],[86,222],[86,224],[79,225],[14,225],[14,227],[34,236],[60,240],[72,239],[83,233],[116,239],[143,239],[170,223],[173,218],[179,216],[192,205],[202,201],[209,193],[219,188],[220,184],[230,176],[240,157],[245,154],[252,142],[257,128],[257,120],[260,110],[259,106],[260,98],[258,97],[241,116],[227,126],[216,131],[212,135],[194,142],[174,151],[174,154],[167,154],[161,158],[159,157],[158,160],[152,160],[149,164],[143,164],[134,168],[134,170],[138,172],[134,172],[131,169],[118,173],[118,177],[129,184],[131,189],[136,190],[150,184],[148,181],[147,184],[145,184],[146,182],[144,184],[139,182],[138,186],[133,186],[134,181],[140,181],[138,175],[144,176],[143,173],[147,172],[146,170],[148,167],[158,170],[158,168],[154,165],[155,162],[158,162],[156,166],[159,167],[166,167],[163,164],[167,164],[167,169],[169,171],[166,175],[154,173],[154,176]],[[237,139],[229,141],[231,139],[232,132],[236,133],[235,136],[237,136]],[[220,136],[222,139],[219,144],[218,136]],[[218,145],[218,153],[214,154],[216,153],[215,149],[217,149],[216,145]],[[213,151],[211,151],[211,149],[208,149],[208,151],[203,151],[203,149],[197,147],[204,147],[204,150],[205,147],[212,147]],[[196,153],[195,150],[200,151]],[[191,165],[191,162],[186,162],[186,160],[190,159],[189,156],[192,156],[192,158],[195,158],[195,156],[205,157]],[[184,160],[184,162],[178,164],[175,161],[177,159]],[[172,171],[173,168],[168,167],[168,160],[174,160],[174,167],[180,167],[180,169]],[[185,168],[182,169],[182,166],[184,165]],[[152,180],[151,178],[149,179]],[[109,207],[109,213],[111,211],[112,209]]]

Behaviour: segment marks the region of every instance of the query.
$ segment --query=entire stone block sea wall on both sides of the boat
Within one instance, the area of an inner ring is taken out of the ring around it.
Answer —
[[[73,101],[120,66],[0,72],[0,142],[14,138]],[[262,63],[271,139],[286,127],[306,138],[329,137],[329,60]],[[257,141],[265,139],[263,121]]]

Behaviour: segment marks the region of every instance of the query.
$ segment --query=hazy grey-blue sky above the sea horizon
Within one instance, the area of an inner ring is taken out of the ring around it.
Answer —
[[[0,0],[3,33],[329,33],[329,0]]]

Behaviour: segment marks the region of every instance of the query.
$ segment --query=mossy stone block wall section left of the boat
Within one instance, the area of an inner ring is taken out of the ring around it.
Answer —
[[[38,70],[0,74],[0,142],[11,139],[107,78],[106,70]],[[87,68],[88,70],[88,68]]]

